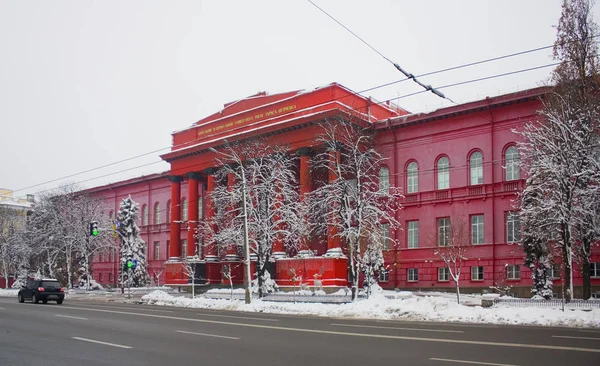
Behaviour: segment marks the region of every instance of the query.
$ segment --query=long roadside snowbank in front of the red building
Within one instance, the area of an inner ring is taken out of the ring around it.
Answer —
[[[291,303],[252,300],[218,300],[198,297],[174,297],[164,291],[154,291],[142,297],[149,304],[248,312],[304,314],[362,319],[391,319],[410,321],[439,321],[513,325],[546,325],[570,327],[600,327],[600,309],[591,311],[548,308],[516,308],[459,305],[455,300],[440,296],[408,296],[387,299],[374,294],[347,304]]]

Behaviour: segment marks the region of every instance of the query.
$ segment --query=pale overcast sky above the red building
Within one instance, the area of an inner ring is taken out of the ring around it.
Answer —
[[[560,16],[560,0],[314,2],[416,75],[551,45]],[[0,49],[0,187],[17,195],[168,170],[136,167],[159,161],[172,131],[258,91],[334,81],[361,91],[403,78],[306,0],[0,0]],[[546,49],[421,81],[439,87],[552,62]],[[442,91],[464,103],[542,85],[550,70]],[[366,95],[419,90],[403,82]],[[397,103],[449,105],[430,93]]]

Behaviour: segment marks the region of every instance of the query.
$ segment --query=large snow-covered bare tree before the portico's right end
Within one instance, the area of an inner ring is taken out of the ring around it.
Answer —
[[[352,299],[358,295],[359,275],[367,274],[367,290],[383,266],[382,251],[394,245],[390,233],[400,228],[400,189],[390,185],[384,157],[374,147],[374,133],[346,120],[325,123],[317,144],[324,149],[314,158],[314,174],[327,172],[327,181],[309,194],[314,236],[340,242],[349,257]],[[326,255],[344,255],[332,252]]]

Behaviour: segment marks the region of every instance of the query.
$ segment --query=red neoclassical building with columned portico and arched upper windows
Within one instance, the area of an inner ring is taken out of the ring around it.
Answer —
[[[131,194],[141,206],[142,235],[148,243],[150,267],[155,269],[151,276],[161,273],[162,266],[166,270],[160,274],[161,283],[187,284],[181,258],[195,254],[196,245],[191,244],[196,241],[195,223],[214,215],[206,200],[215,187],[216,155],[211,148],[221,146],[223,139],[234,142],[257,136],[272,144],[286,144],[290,153],[301,157],[299,190],[305,193],[318,179],[311,177],[308,153],[319,148],[315,142],[321,132],[319,123],[352,116],[353,121],[376,130],[378,148],[389,158],[380,176],[387,175],[390,184],[402,187],[405,195],[404,209],[397,213],[402,230],[390,233],[398,245],[385,253],[388,270],[380,274],[382,287],[454,288],[444,263],[434,253],[447,240],[445,233],[452,223],[453,229],[464,229],[472,244],[461,288],[480,292],[490,286],[514,286],[513,292],[526,296],[531,279],[529,269],[522,265],[523,251],[514,244],[519,239],[519,222],[513,205],[524,179],[515,146],[518,136],[512,131],[536,118],[544,91],[538,88],[486,98],[427,114],[377,104],[338,84],[310,92],[259,93],[226,104],[222,111],[173,133],[172,149],[162,156],[171,164],[170,172],[89,191],[102,195],[113,214]],[[339,251],[338,241],[309,243],[316,258],[290,257],[293,253],[285,253],[282,243],[274,246],[274,252],[288,255],[275,262],[280,285],[290,284],[289,267],[301,268],[309,283],[317,275],[322,276],[324,286],[346,285],[346,259],[323,256]],[[210,243],[200,248],[201,277],[210,284],[220,283],[222,253]],[[231,261],[240,260],[235,252],[227,254]],[[95,279],[114,283],[116,260],[115,256],[98,258]],[[600,262],[600,254],[595,253],[592,262]],[[239,267],[236,277],[241,282]],[[600,268],[593,275],[600,276]],[[580,286],[577,268],[574,277]],[[592,285],[599,286],[600,278],[594,278]]]

